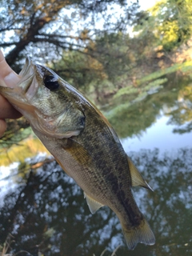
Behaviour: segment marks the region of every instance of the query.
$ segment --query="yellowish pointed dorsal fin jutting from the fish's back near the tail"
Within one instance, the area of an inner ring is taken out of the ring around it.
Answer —
[[[144,178],[142,178],[142,175],[139,174],[138,169],[134,166],[134,163],[130,160],[130,158],[127,157],[127,160],[130,167],[132,186],[143,186],[148,190],[152,190],[150,185],[144,180]]]

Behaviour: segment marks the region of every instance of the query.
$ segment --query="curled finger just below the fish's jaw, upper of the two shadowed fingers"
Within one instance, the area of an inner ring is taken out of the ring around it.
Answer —
[[[0,118],[21,118],[22,114],[15,110],[13,106],[0,95]]]

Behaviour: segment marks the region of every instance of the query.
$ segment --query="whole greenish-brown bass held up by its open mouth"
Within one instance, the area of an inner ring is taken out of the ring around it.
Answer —
[[[85,96],[49,67],[26,58],[15,86],[0,94],[30,122],[34,134],[84,191],[90,212],[108,206],[118,216],[130,250],[154,245],[154,233],[132,194],[152,190],[127,156],[110,122]]]

